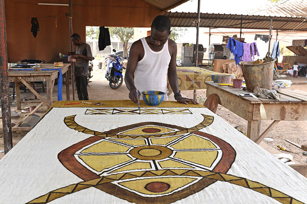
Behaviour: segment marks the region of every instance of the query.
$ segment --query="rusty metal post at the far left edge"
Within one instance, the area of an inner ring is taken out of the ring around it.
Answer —
[[[7,154],[13,147],[10,88],[8,80],[8,49],[5,25],[5,6],[4,0],[0,0],[0,92],[2,108],[2,125],[4,137],[4,153]]]

